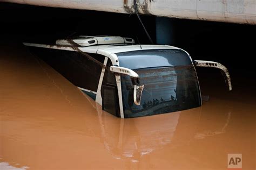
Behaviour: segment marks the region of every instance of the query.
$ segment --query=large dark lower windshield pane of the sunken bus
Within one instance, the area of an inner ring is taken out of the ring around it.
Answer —
[[[144,84],[140,105],[133,103],[133,85],[122,75],[124,116],[139,117],[196,108],[201,105],[193,65],[134,69]]]

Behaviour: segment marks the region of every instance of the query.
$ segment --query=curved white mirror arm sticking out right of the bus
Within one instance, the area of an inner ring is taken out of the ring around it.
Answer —
[[[224,76],[225,82],[227,84],[228,90],[232,90],[231,78],[228,69],[221,65],[221,63],[213,62],[213,61],[203,61],[203,60],[194,60],[194,66],[196,67],[212,67],[221,69],[221,74]]]

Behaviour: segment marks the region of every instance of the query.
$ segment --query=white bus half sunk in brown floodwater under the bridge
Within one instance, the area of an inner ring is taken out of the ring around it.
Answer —
[[[200,107],[195,67],[221,69],[228,90],[232,89],[225,66],[192,60],[183,49],[169,45],[136,45],[131,38],[110,36],[78,36],[57,40],[55,45],[24,45],[103,110],[121,118]]]

